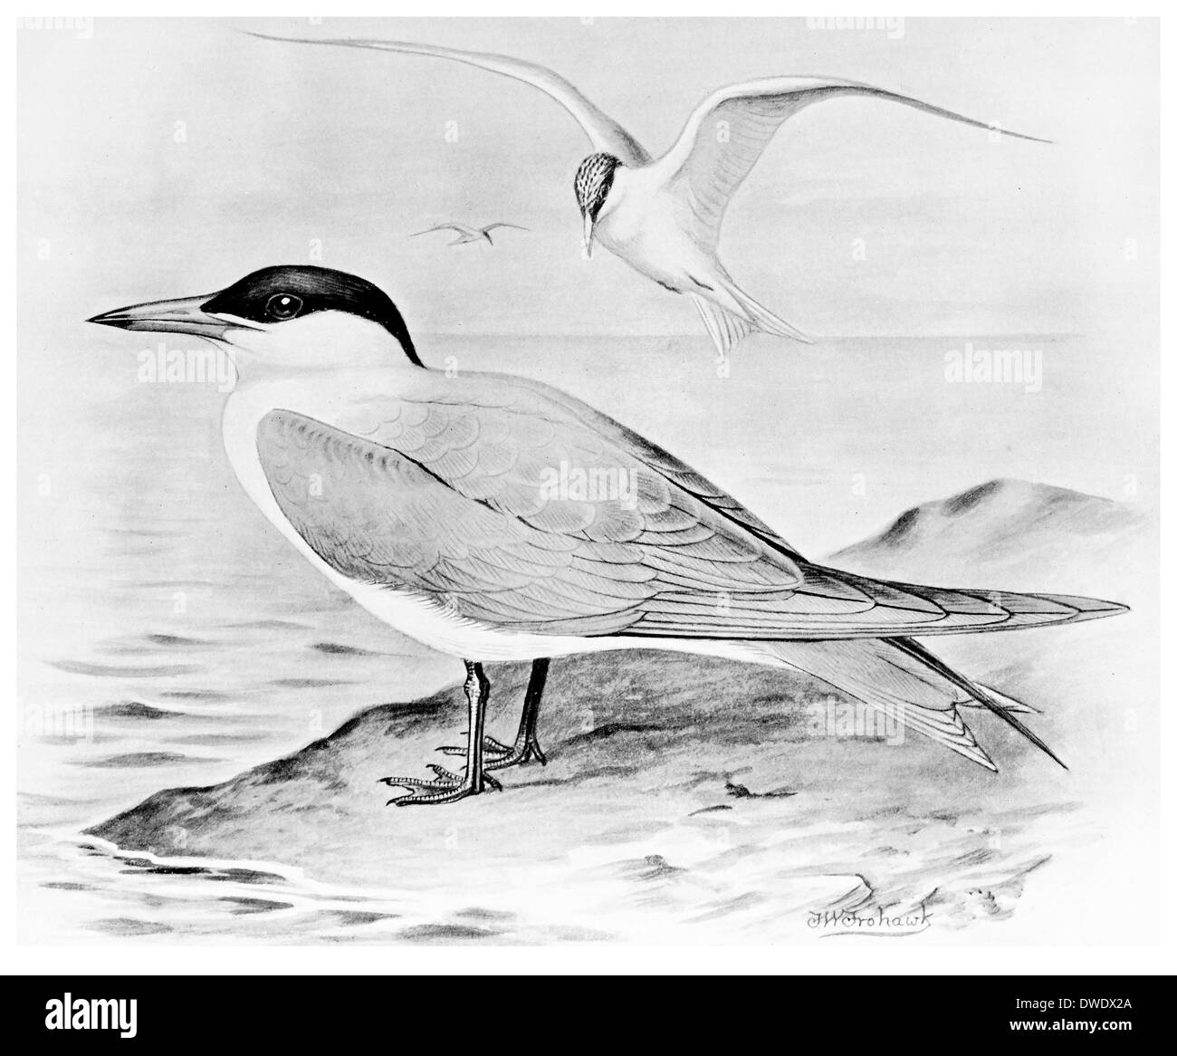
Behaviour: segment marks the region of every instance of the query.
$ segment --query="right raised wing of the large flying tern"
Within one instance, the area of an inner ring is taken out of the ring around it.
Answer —
[[[674,146],[654,162],[665,185],[687,206],[686,214],[693,215],[697,237],[714,246],[727,202],[785,121],[806,106],[843,95],[871,95],[976,128],[1049,142],[857,81],[776,77],[731,85],[699,105]]]

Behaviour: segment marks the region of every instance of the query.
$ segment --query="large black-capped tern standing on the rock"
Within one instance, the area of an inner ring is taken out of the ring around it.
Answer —
[[[465,663],[465,770],[384,778],[401,805],[498,788],[544,762],[548,659],[658,649],[814,675],[996,771],[960,717],[985,708],[1058,761],[1015,712],[912,636],[1075,623],[1123,605],[869,579],[806,560],[673,454],[526,378],[423,365],[393,301],[364,279],[267,267],[219,293],[95,316],[207,338],[232,357],[228,460],[324,576],[403,635]],[[516,740],[486,736],[484,664],[532,660]]]

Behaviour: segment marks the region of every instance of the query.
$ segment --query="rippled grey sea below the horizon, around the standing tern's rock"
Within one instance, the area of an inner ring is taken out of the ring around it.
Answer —
[[[337,886],[279,862],[177,870],[80,835],[158,789],[225,781],[357,711],[457,680],[460,664],[378,624],[277,537],[226,465],[214,385],[137,381],[134,353],[152,346],[139,336],[41,326],[20,381],[22,941],[387,941],[414,927],[461,938],[460,921],[428,930],[439,910],[420,892]],[[434,364],[577,392],[813,553],[996,476],[1115,497],[1130,476],[1150,486],[1151,419],[1137,386],[1109,385],[1102,343],[1022,339],[1043,350],[1042,390],[1030,392],[946,383],[945,352],[964,340],[814,350],[756,338],[726,379],[697,338],[420,346]],[[1076,416],[1085,432],[1069,427]],[[471,919],[467,930],[516,942],[594,935],[572,915],[508,932]]]

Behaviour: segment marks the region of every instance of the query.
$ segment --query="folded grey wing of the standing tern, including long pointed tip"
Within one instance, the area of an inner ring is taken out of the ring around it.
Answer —
[[[997,598],[1020,596],[905,589],[799,563],[634,450],[512,392],[518,400],[497,405],[371,399],[348,412],[348,431],[273,411],[258,453],[282,513],[337,571],[499,629],[773,640],[1015,618],[1018,606]],[[1078,612],[1058,599],[1023,604],[1030,622]]]

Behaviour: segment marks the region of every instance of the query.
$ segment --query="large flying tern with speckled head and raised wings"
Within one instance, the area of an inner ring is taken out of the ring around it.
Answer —
[[[719,260],[718,250],[727,204],[777,129],[793,114],[825,99],[871,95],[989,132],[1049,142],[858,81],[770,77],[713,92],[687,119],[678,142],[654,160],[629,132],[568,81],[534,62],[395,40],[251,35],[293,44],[453,59],[525,81],[553,98],[580,122],[594,148],[594,153],[580,162],[573,181],[584,226],[585,253],[592,255],[593,240],[597,240],[659,286],[690,297],[720,359],[750,331],[810,341],[740,290]]]

